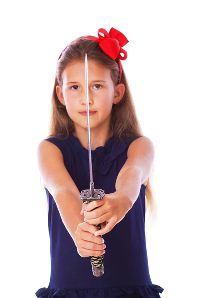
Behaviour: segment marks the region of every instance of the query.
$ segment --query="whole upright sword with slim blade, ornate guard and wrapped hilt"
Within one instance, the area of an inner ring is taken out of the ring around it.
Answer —
[[[103,189],[95,189],[93,180],[92,169],[92,156],[91,156],[91,133],[90,133],[90,117],[89,117],[89,84],[88,84],[88,60],[87,53],[85,55],[85,76],[86,76],[86,104],[87,104],[87,130],[88,130],[88,145],[89,145],[89,167],[90,167],[90,189],[82,190],[80,193],[80,200],[89,204],[94,200],[102,200],[105,195]],[[100,224],[94,224],[99,230]],[[103,268],[103,255],[91,256],[91,265],[94,276],[102,276],[104,273]]]

